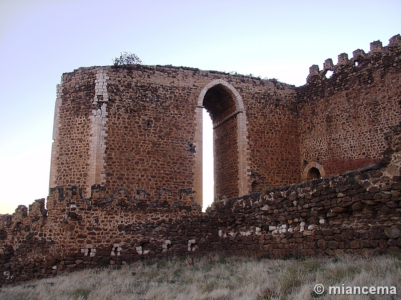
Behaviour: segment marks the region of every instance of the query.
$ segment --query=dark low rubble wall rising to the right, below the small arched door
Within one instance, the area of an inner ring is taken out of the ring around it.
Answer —
[[[379,163],[214,203],[222,250],[271,256],[401,249],[401,126]]]

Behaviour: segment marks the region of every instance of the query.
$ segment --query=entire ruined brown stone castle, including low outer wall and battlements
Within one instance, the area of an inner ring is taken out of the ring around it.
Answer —
[[[211,250],[400,250],[400,52],[399,34],[375,41],[312,66],[301,87],[173,66],[63,74],[46,207],[0,215],[0,283]],[[203,107],[215,141],[207,212]]]

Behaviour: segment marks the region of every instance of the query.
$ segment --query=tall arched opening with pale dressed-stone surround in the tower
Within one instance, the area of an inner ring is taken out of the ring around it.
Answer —
[[[216,79],[200,92],[196,107],[195,156],[196,202],[202,203],[202,109],[213,122],[215,195],[237,197],[249,192],[248,139],[244,103],[228,82]],[[200,147],[199,147],[200,145]]]

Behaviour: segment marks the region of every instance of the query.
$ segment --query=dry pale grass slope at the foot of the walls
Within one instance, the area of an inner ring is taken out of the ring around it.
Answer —
[[[83,270],[0,289],[1,299],[401,299],[401,255],[253,258],[209,254]],[[398,295],[317,295],[326,286],[396,286]]]

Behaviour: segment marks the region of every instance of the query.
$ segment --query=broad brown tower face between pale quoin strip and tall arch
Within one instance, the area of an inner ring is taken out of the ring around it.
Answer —
[[[174,199],[180,189],[192,194],[196,99],[170,73],[108,70],[105,186],[112,192],[127,186],[130,197],[152,200],[163,189]]]

